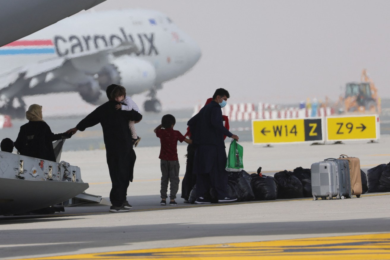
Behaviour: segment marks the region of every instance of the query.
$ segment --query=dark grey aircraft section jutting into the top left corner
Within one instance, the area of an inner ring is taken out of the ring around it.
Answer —
[[[105,0],[1,1],[0,46],[32,34]]]

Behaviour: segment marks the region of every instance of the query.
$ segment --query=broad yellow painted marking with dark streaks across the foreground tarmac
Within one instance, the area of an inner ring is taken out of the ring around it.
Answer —
[[[154,248],[89,253],[78,255],[24,258],[24,260],[78,260],[78,259],[217,259],[217,260],[318,260],[318,259],[388,259],[390,260],[390,233],[315,237],[259,242],[241,242],[174,248]]]

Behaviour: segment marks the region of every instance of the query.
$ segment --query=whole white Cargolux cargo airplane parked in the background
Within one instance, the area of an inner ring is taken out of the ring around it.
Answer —
[[[0,48],[0,113],[24,117],[23,96],[78,92],[91,104],[105,88],[128,95],[149,90],[145,111],[160,111],[156,91],[191,69],[199,46],[166,15],[104,11],[66,18]]]

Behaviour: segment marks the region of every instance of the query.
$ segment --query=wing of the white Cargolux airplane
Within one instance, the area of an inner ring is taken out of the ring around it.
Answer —
[[[84,71],[85,73],[96,74],[103,65],[109,63],[109,55],[119,57],[136,53],[137,51],[138,48],[133,42],[124,42],[114,48],[94,50],[89,51],[88,53],[75,53],[64,57],[55,57],[28,64],[7,73],[0,74],[0,94],[2,94],[2,89],[11,88],[18,80],[29,81],[32,78],[40,78],[39,80],[42,81],[47,80],[46,76],[50,72],[56,71],[57,74],[58,72],[61,74],[60,70],[65,64],[71,64],[74,69]],[[67,69],[69,69],[69,65]]]

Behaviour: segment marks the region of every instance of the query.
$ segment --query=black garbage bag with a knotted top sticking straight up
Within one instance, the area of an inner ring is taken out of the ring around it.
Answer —
[[[252,188],[255,200],[276,200],[278,196],[277,181],[271,176],[254,176]]]

